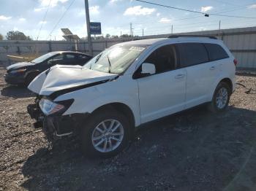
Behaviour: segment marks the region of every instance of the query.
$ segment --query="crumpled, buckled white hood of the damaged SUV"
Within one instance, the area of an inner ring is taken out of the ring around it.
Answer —
[[[106,79],[113,79],[117,74],[85,69],[83,66],[56,65],[39,74],[29,85],[29,90],[39,95],[50,95],[59,90],[80,85],[89,85]]]

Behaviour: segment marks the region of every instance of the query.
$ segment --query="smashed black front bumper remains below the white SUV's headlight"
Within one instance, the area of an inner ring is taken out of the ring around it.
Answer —
[[[69,136],[72,133],[78,133],[80,125],[89,114],[70,114],[60,116],[45,116],[39,108],[39,101],[36,104],[27,106],[27,110],[32,119],[37,120],[34,123],[35,128],[42,128],[48,139],[54,137]]]

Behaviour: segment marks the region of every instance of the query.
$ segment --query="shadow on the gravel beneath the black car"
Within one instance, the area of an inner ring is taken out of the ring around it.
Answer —
[[[26,87],[8,85],[1,89],[0,95],[12,98],[29,98],[34,97],[35,94],[28,90]]]

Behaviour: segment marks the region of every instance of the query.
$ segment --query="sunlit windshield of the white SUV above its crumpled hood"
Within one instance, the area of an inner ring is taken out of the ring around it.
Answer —
[[[142,45],[110,47],[95,56],[84,66],[95,71],[121,74],[138,58],[145,48],[146,46]]]

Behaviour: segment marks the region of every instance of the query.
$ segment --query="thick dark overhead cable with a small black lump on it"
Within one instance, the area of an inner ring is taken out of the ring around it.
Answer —
[[[156,3],[153,3],[153,2],[149,2],[149,1],[142,1],[142,0],[135,0],[135,1],[140,1],[140,2],[143,2],[143,3],[146,3],[146,4],[154,4],[154,5],[157,5],[157,6],[160,6],[160,7],[166,7],[166,8],[170,8],[170,9],[178,9],[178,10],[181,10],[181,11],[187,11],[187,12],[194,12],[194,13],[197,13],[197,14],[202,14],[202,15],[205,15],[206,17],[208,17],[209,15],[214,15],[214,16],[219,16],[219,17],[237,17],[237,18],[250,18],[250,19],[255,19],[256,17],[242,17],[242,16],[235,16],[235,15],[219,15],[219,14],[214,14],[214,13],[206,13],[206,12],[197,12],[197,11],[193,11],[193,10],[190,10],[190,9],[181,9],[181,8],[178,8],[178,7],[171,7],[171,6],[167,6],[167,5],[164,5],[164,4],[156,4]]]

